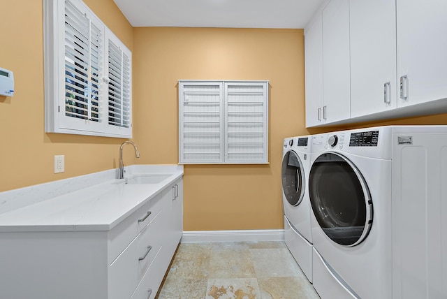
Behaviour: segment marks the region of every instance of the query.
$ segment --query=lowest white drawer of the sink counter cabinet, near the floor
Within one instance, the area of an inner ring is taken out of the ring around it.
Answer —
[[[161,281],[166,272],[165,264],[166,262],[163,259],[163,247],[160,247],[159,251],[156,252],[156,256],[152,261],[149,269],[142,277],[140,284],[138,284],[135,293],[131,299],[154,299],[157,291],[159,291],[159,287],[161,285]]]

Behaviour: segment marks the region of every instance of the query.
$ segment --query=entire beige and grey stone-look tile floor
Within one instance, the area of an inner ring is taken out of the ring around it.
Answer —
[[[319,298],[284,242],[181,243],[158,299]]]

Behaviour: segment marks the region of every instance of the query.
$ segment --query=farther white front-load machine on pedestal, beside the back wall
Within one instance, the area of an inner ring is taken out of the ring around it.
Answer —
[[[312,232],[307,182],[311,136],[284,139],[281,166],[284,240],[309,282],[312,282]]]

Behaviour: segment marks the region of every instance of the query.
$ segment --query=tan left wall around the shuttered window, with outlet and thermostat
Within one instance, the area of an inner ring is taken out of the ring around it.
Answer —
[[[86,0],[133,50],[133,28],[112,0]],[[49,134],[44,129],[43,1],[0,1],[0,67],[14,72],[13,97],[0,96],[0,191],[117,167],[117,138]],[[65,173],[54,175],[54,155]],[[134,163],[131,149],[125,159]]]

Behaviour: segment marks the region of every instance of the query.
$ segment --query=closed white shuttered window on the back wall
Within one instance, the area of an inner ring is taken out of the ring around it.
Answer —
[[[179,163],[268,163],[268,81],[179,81]]]

